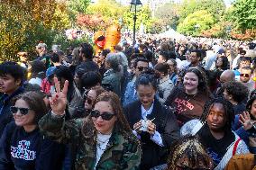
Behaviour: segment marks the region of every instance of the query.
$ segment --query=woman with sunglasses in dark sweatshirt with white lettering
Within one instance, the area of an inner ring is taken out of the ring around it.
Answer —
[[[27,92],[14,99],[14,121],[0,139],[1,170],[61,169],[64,146],[44,139],[38,121],[47,112],[43,96]]]

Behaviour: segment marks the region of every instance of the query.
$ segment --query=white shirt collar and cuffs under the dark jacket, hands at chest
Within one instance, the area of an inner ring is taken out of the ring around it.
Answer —
[[[149,110],[146,110],[143,105],[141,106],[141,112],[142,112],[142,118],[144,120],[147,120],[147,115],[150,115],[153,111],[154,108],[154,103],[152,103],[151,107]],[[133,134],[135,136],[137,136],[138,139],[140,139],[140,135],[137,134],[137,132],[135,130],[133,130]],[[155,142],[157,145],[159,145],[160,147],[163,147],[163,143],[162,143],[162,138],[160,136],[160,133],[156,130],[154,135],[151,135],[151,140],[153,142]]]

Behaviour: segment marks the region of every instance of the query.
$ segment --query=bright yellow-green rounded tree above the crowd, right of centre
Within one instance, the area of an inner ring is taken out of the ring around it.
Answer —
[[[200,10],[188,14],[185,20],[178,24],[178,31],[186,35],[200,35],[201,31],[206,31],[215,24],[215,18],[206,10]]]

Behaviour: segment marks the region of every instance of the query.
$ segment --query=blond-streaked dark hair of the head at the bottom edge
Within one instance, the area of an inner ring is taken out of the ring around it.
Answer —
[[[177,165],[180,160],[183,160],[181,165]],[[184,169],[213,169],[214,163],[196,136],[185,136],[172,144],[169,153],[168,170],[177,166]]]

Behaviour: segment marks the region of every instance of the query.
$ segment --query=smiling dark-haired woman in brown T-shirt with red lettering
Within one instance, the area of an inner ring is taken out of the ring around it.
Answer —
[[[187,121],[200,118],[208,99],[209,92],[203,71],[199,67],[191,67],[183,77],[182,88],[174,88],[165,104],[175,111],[178,124],[182,126]]]

